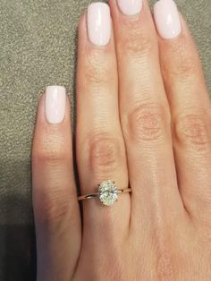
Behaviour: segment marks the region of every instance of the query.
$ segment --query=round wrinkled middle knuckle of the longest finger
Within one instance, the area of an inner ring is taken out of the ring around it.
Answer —
[[[162,106],[149,103],[137,106],[129,115],[131,138],[136,141],[161,141],[167,115]]]

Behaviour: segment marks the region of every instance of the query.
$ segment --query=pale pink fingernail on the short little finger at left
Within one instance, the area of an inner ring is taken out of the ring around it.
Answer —
[[[46,120],[61,123],[65,115],[66,90],[62,86],[46,87]]]

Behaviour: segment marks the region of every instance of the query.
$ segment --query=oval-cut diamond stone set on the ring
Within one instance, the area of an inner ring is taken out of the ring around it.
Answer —
[[[111,180],[104,181],[98,186],[99,200],[106,206],[111,206],[118,199],[118,189]]]

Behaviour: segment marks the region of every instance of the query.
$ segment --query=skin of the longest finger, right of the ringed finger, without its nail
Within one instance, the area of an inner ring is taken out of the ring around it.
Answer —
[[[139,14],[113,14],[118,58],[120,115],[132,187],[131,228],[139,234],[157,217],[173,222],[183,213],[173,159],[171,116],[160,72],[156,30],[144,1]],[[149,218],[149,216],[151,218]],[[159,226],[157,226],[159,227]],[[151,230],[154,231],[154,230]]]

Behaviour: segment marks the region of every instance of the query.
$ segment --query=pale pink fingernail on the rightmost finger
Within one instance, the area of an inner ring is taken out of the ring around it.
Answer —
[[[181,33],[181,21],[173,0],[159,0],[154,6],[156,29],[165,39],[175,38]]]

